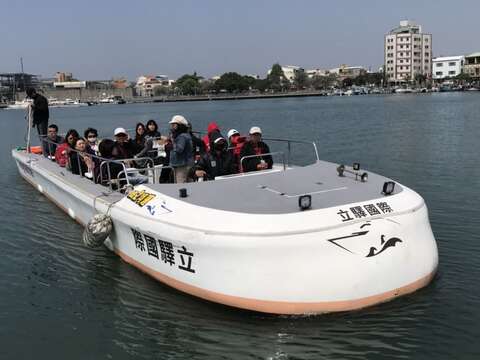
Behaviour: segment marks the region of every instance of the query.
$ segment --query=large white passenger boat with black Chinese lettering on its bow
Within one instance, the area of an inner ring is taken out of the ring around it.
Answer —
[[[355,310],[420,289],[437,270],[422,197],[357,166],[317,160],[187,184],[153,176],[125,195],[42,155],[12,156],[79,223],[108,213],[105,245],[127,263],[216,303],[274,314]]]

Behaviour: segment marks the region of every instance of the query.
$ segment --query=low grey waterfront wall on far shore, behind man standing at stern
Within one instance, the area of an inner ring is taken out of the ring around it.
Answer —
[[[110,95],[120,95],[125,100],[132,100],[134,97],[133,88],[126,89],[44,89],[39,91],[46,98],[58,100],[79,99],[81,101],[94,101]],[[17,93],[17,100],[25,98],[25,93]]]

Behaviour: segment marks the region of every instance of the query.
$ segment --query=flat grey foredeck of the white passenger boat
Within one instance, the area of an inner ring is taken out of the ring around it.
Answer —
[[[187,184],[147,185],[152,190],[181,199],[190,204],[218,210],[253,213],[286,214],[298,212],[298,198],[309,194],[312,209],[368,201],[383,197],[385,181],[390,179],[368,172],[368,180],[355,180],[355,175],[339,177],[337,164],[319,161],[286,171],[255,172],[215,181]],[[360,170],[363,173],[365,170]],[[186,188],[188,196],[179,197]],[[396,184],[395,192],[402,188]]]

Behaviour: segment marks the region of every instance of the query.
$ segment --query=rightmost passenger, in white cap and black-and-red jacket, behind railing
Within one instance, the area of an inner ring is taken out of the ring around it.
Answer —
[[[249,134],[249,140],[243,145],[240,152],[240,159],[244,156],[270,153],[268,145],[262,141],[262,129],[254,126],[250,129]],[[271,169],[272,166],[273,159],[271,155],[248,157],[240,164],[243,172]]]

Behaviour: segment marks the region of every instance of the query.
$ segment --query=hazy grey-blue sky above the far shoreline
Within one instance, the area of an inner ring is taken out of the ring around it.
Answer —
[[[480,51],[479,0],[0,0],[0,72],[81,80],[196,71],[265,76],[274,63],[377,70],[384,35],[422,25],[434,56]]]

